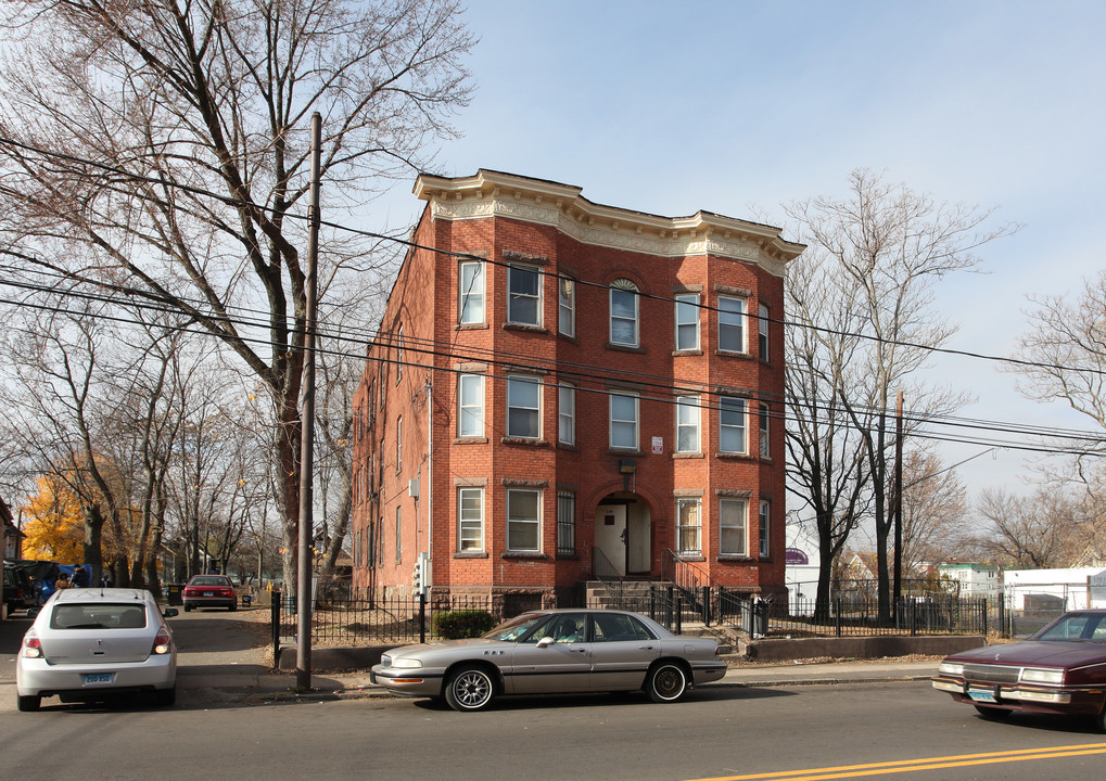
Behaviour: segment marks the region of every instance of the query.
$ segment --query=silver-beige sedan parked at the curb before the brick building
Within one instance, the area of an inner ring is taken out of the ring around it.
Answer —
[[[445,697],[471,711],[499,695],[549,693],[644,690],[675,703],[723,675],[713,638],[674,635],[638,613],[542,610],[482,637],[392,648],[371,677],[395,694]]]

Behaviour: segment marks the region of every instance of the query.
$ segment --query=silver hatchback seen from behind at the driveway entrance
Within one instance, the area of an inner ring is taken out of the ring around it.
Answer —
[[[43,697],[63,703],[152,693],[169,706],[177,694],[177,647],[153,594],[140,589],[67,589],[42,608],[15,662],[20,710]]]

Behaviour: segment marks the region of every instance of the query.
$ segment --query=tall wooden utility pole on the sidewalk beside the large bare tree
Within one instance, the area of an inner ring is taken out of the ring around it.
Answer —
[[[314,471],[315,471],[315,314],[319,288],[319,178],[321,169],[323,118],[311,115],[311,205],[307,208],[307,289],[303,334],[303,405],[300,413],[300,546],[296,572],[296,634],[295,685],[311,688],[311,542],[315,528]]]

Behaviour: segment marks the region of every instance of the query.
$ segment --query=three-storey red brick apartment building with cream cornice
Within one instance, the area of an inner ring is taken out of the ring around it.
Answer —
[[[783,270],[803,246],[481,170],[427,201],[354,400],[354,589],[565,604],[599,570],[784,588]]]

